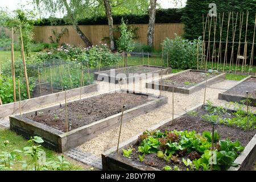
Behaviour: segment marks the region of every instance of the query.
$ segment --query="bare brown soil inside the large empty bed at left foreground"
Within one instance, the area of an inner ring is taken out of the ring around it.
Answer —
[[[125,100],[125,110],[145,104],[148,96],[143,94],[131,93],[108,93],[99,97],[86,98],[67,104],[69,130],[77,129],[81,126],[108,118],[111,115],[121,113]],[[60,131],[66,131],[65,125],[65,106],[57,106],[40,113],[38,115],[26,115],[33,121],[43,123]]]

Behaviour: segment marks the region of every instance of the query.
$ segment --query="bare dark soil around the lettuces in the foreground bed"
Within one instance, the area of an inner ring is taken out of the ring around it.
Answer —
[[[184,117],[180,118],[177,120],[173,125],[166,126],[162,129],[162,131],[172,131],[172,130],[177,130],[177,131],[193,131],[195,130],[196,133],[202,134],[203,131],[212,131],[212,125],[209,122],[203,121],[201,119],[200,115],[206,114],[205,110],[199,110],[199,114],[197,116],[191,116],[191,115],[185,115]],[[227,117],[227,114],[222,115],[221,117]],[[230,117],[230,116],[229,116]],[[216,130],[218,134],[220,135],[220,140],[221,139],[226,139],[229,138],[233,142],[235,140],[239,140],[241,142],[242,146],[246,146],[247,143],[251,140],[251,138],[254,137],[256,130],[253,131],[243,131],[239,129],[238,127],[229,127],[225,125],[216,125]],[[133,146],[136,151],[138,151],[138,144]],[[139,154],[137,152],[133,152],[131,154],[131,159],[135,163],[140,163],[139,160]],[[173,162],[166,162],[163,159],[158,158],[156,154],[148,154],[144,156],[144,164],[147,164],[149,166],[158,168],[158,169],[163,169],[164,166],[171,166],[172,168],[174,166],[179,167],[182,170],[186,170],[185,165],[182,162],[182,158],[187,159],[188,154],[178,154],[179,162],[178,163],[173,163]]]

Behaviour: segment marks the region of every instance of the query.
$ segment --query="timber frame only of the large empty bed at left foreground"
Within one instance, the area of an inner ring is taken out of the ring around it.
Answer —
[[[129,92],[129,90],[121,90],[121,93],[125,93],[125,92]],[[114,92],[112,91],[108,93],[114,93]],[[133,92],[129,92],[129,93],[133,93]],[[137,94],[137,93],[133,93],[133,94]],[[84,98],[83,100],[100,98],[101,95],[102,94],[99,94],[93,97]],[[147,96],[147,98],[150,98],[150,100],[147,101],[146,104],[139,105],[131,109],[125,110],[123,112],[123,122],[127,122],[130,119],[137,117],[138,115],[148,113],[149,111],[154,110],[157,107],[167,103],[166,97],[158,97],[153,94],[146,94],[146,93],[138,93],[138,95]],[[72,104],[72,102],[68,102],[68,104],[69,103]],[[56,105],[53,107],[46,107],[42,110],[36,110],[36,111],[37,113],[40,113],[40,112],[47,113],[47,111],[51,109],[53,110],[57,107],[60,107],[60,105]],[[48,125],[44,125],[42,123],[32,121],[32,119],[28,119],[26,116],[31,114],[35,115],[35,111],[26,113],[22,117],[20,117],[19,115],[11,116],[10,129],[15,131],[18,134],[23,135],[25,138],[30,138],[31,136],[38,135],[44,139],[45,141],[44,145],[46,147],[56,151],[60,151],[60,152],[64,152],[64,151],[67,151],[69,148],[79,146],[82,143],[86,142],[87,140],[96,137],[96,135],[119,126],[119,122],[121,118],[121,112],[119,112],[118,114],[111,115],[110,117],[89,123],[89,125],[84,125],[82,127],[73,129],[71,131],[63,132],[63,131],[54,129],[53,127],[50,127]]]

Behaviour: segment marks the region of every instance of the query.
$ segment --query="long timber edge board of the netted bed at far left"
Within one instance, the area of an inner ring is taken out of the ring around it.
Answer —
[[[82,87],[82,94],[97,91],[98,84],[92,84]],[[67,90],[67,98],[79,96],[80,88]],[[58,92],[48,94],[46,96],[35,97],[20,102],[22,112],[29,111],[35,107],[51,104],[53,102],[64,100],[65,92]],[[0,105],[0,117],[6,117],[8,115],[14,115],[19,113],[19,102],[13,102],[10,104]]]

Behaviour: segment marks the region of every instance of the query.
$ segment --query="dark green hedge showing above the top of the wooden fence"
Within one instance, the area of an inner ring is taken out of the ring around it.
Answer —
[[[180,23],[181,9],[159,9],[156,10],[155,23]],[[113,15],[114,24],[121,24],[121,19],[127,20],[129,24],[148,24],[148,15],[123,14]],[[106,16],[86,18],[78,21],[79,25],[108,24]],[[43,18],[36,22],[35,26],[70,25],[63,18]]]

